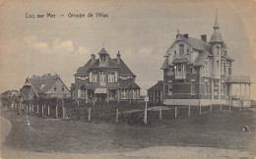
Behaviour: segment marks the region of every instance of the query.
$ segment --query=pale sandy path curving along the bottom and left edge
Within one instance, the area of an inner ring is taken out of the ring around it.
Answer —
[[[141,149],[127,153],[102,153],[102,154],[77,154],[77,153],[37,153],[15,150],[2,145],[8,132],[11,131],[11,123],[0,118],[1,121],[1,158],[256,158],[247,151],[233,149],[219,149],[213,147],[182,147],[182,146],[158,146]]]

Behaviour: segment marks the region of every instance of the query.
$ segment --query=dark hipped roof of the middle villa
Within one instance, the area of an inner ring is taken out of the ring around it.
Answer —
[[[98,54],[108,55],[104,48],[102,48]],[[80,67],[77,70],[77,73],[74,76],[89,76],[90,69],[102,67],[117,68],[119,76],[135,76],[122,59],[120,59],[120,64],[117,64],[117,59],[111,59],[110,56],[107,56],[107,58],[107,65],[104,66],[99,65],[99,59],[96,59],[94,63],[92,63],[92,59],[90,59],[83,67]]]

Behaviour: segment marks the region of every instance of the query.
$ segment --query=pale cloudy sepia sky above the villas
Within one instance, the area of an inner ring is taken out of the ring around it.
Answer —
[[[32,75],[58,74],[70,87],[76,70],[102,47],[137,75],[142,94],[162,79],[163,55],[180,33],[208,40],[219,10],[233,74],[256,81],[256,1],[0,1],[0,92]],[[107,18],[96,18],[96,13]],[[55,18],[47,18],[47,13]],[[68,14],[85,14],[69,18]],[[94,17],[88,17],[89,14]],[[44,15],[37,18],[37,15]],[[34,19],[27,18],[34,15]],[[64,16],[60,16],[64,15]],[[255,84],[251,86],[256,99]],[[236,90],[234,90],[236,91]]]

